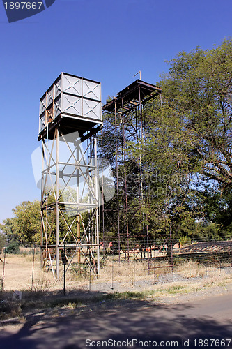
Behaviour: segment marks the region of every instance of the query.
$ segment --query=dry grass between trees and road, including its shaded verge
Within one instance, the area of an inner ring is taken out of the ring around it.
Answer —
[[[104,267],[100,269],[100,278],[98,280],[91,279],[91,283],[111,283],[112,274],[114,283],[118,282],[121,289],[118,292],[109,292],[105,295],[99,292],[98,296],[91,296],[85,299],[84,302],[98,302],[96,306],[99,308],[99,301],[102,299],[117,300],[117,299],[150,299],[152,301],[160,299],[160,297],[173,297],[173,295],[185,295],[189,292],[204,290],[208,292],[208,288],[212,285],[226,287],[231,285],[232,274],[226,274],[224,269],[219,269],[216,265],[207,267],[197,262],[183,262],[174,268],[174,274],[180,275],[188,279],[188,282],[169,282],[166,284],[157,283],[154,287],[154,282],[157,281],[160,274],[171,272],[171,268],[167,267],[168,262],[150,262],[150,267],[156,269],[148,269],[147,261],[136,262],[121,262],[108,259]],[[71,270],[67,272],[66,290],[72,291],[67,299],[63,298],[62,288],[63,280],[54,281],[52,272],[42,272],[40,269],[40,256],[36,255],[33,284],[32,284],[32,269],[33,255],[6,255],[6,268],[4,275],[4,291],[0,292],[0,319],[16,316],[22,317],[25,309],[38,308],[43,309],[49,307],[52,309],[52,315],[59,314],[57,307],[65,306],[69,313],[80,311],[79,304],[83,300],[77,299],[79,290],[82,288],[88,289],[89,268],[85,272],[73,273]],[[0,265],[0,279],[2,276],[3,264]],[[61,277],[63,269],[61,267]],[[154,274],[155,272],[155,274]],[[191,277],[190,277],[191,276]],[[198,279],[194,279],[198,278]],[[194,279],[192,281],[192,279]],[[152,281],[147,283],[143,288],[134,288],[139,281]],[[15,302],[12,300],[14,290],[22,290],[22,301]],[[33,292],[31,292],[31,290]],[[76,292],[78,291],[78,292]],[[71,299],[73,295],[73,299]],[[104,304],[100,303],[100,309],[104,310]],[[82,304],[82,306],[84,306]],[[91,305],[95,306],[94,304]],[[30,308],[31,307],[31,308]]]

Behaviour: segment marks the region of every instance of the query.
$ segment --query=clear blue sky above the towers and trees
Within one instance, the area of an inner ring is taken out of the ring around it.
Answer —
[[[141,70],[155,83],[164,61],[232,35],[231,0],[56,0],[9,24],[0,3],[0,223],[40,198],[31,167],[39,99],[64,71],[102,83],[102,102]]]

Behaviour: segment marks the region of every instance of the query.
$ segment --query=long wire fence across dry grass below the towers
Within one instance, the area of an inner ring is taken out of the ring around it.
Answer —
[[[176,245],[176,246],[175,246]],[[153,242],[148,248],[131,244],[119,251],[114,244],[100,249],[100,275],[95,277],[89,265],[77,260],[67,269],[65,265],[59,281],[54,281],[51,270],[41,269],[40,248],[33,246],[13,255],[1,254],[0,288],[39,292],[73,289],[98,292],[121,292],[131,288],[154,287],[171,282],[201,281],[206,278],[232,276],[232,241],[198,241],[192,244]],[[62,260],[61,260],[62,266]]]

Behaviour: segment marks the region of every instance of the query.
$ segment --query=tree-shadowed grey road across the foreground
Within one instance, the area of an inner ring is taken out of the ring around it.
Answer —
[[[232,293],[183,304],[99,302],[1,327],[1,349],[232,348]]]

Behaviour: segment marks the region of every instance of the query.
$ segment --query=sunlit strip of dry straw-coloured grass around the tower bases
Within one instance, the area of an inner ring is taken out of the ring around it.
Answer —
[[[1,256],[3,259],[3,256]],[[162,266],[162,265],[161,265]],[[3,290],[13,292],[25,291],[54,291],[63,289],[63,269],[61,265],[60,281],[55,281],[52,272],[42,272],[40,256],[36,255],[6,255],[6,264],[0,263],[0,278],[3,277]],[[151,265],[153,267],[153,265]],[[109,260],[100,269],[100,278],[96,279],[87,269],[85,274],[68,270],[65,276],[65,290],[67,294],[73,290],[103,293],[115,292],[146,292],[155,291],[155,297],[172,296],[182,293],[198,291],[208,295],[212,285],[222,288],[232,283],[232,267],[212,265],[206,267],[196,262],[183,262],[170,268],[159,267],[150,269],[146,262],[121,262]],[[211,291],[210,291],[211,292]],[[199,293],[200,294],[200,293]]]

